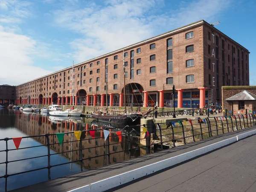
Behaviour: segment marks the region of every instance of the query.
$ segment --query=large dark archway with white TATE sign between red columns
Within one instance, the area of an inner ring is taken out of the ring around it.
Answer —
[[[138,83],[129,83],[125,85],[125,103],[126,106],[143,106],[143,87]],[[124,88],[122,89],[124,93]]]

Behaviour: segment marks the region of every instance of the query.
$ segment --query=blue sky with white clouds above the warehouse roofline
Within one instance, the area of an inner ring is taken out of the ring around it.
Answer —
[[[254,0],[0,0],[0,84],[17,85],[204,19],[250,51]]]

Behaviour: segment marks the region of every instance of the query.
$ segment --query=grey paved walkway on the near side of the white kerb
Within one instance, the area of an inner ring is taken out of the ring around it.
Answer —
[[[255,192],[256,135],[115,192]]]

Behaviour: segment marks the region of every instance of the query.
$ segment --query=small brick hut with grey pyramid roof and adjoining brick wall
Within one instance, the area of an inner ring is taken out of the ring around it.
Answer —
[[[233,113],[256,111],[256,86],[223,86],[222,108]]]

